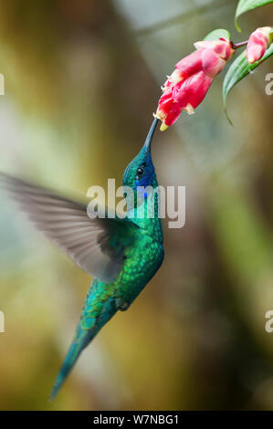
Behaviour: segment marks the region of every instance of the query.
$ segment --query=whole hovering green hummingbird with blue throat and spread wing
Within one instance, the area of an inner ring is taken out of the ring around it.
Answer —
[[[129,201],[131,196],[124,193],[131,213],[122,219],[117,215],[114,218],[106,215],[90,219],[86,204],[5,173],[0,174],[2,186],[20,204],[21,210],[28,214],[37,229],[93,277],[74,338],[49,397],[51,401],[78,361],[81,351],[118,310],[130,307],[163,263],[160,195],[142,194],[144,214],[153,210],[153,216],[137,215],[139,200],[136,198],[140,186],[158,187],[151,155],[152,136],[157,123],[158,119],[153,120],[141,151],[123,173],[123,189],[131,187],[133,201]]]

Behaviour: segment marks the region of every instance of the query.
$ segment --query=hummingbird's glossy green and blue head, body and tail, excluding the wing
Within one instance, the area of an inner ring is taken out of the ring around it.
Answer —
[[[136,196],[138,186],[152,186],[157,188],[158,183],[154,172],[151,157],[152,134],[157,120],[154,120],[152,129],[148,134],[142,151],[128,165],[123,175],[123,186],[130,186]],[[142,178],[137,179],[137,170],[145,164],[145,171]],[[118,236],[120,246],[124,245],[124,264],[119,277],[112,283],[104,283],[94,279],[89,288],[78,329],[74,340],[68,351],[66,361],[59,371],[51,398],[58,393],[61,384],[68,376],[79,353],[89,344],[99,330],[107,323],[118,309],[128,309],[131,302],[140,294],[142,288],[154,276],[163,262],[163,230],[162,222],[158,216],[159,204],[158,194],[153,194],[151,198],[147,195],[142,199],[144,216],[138,218],[138,205],[133,202],[130,219],[131,230],[125,236]],[[128,204],[131,203],[129,199]],[[149,210],[154,211],[154,217],[149,218]],[[136,226],[136,227],[135,227]],[[115,242],[115,237],[112,237]]]

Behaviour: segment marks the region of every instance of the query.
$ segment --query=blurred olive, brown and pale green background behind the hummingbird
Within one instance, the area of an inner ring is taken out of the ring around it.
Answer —
[[[139,151],[173,65],[211,30],[242,41],[273,6],[236,0],[0,1],[0,169],[86,194]],[[224,72],[194,116],[156,133],[159,182],[186,186],[186,225],[163,221],[163,267],[48,394],[88,275],[1,194],[1,410],[273,409],[272,59],[231,92]]]

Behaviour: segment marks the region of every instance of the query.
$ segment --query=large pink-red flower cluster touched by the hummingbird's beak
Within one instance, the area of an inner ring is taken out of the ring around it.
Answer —
[[[163,121],[161,131],[173,125],[183,110],[194,113],[215,76],[234,54],[230,42],[224,38],[196,42],[194,47],[197,50],[176,64],[162,87],[163,95],[154,115]]]

